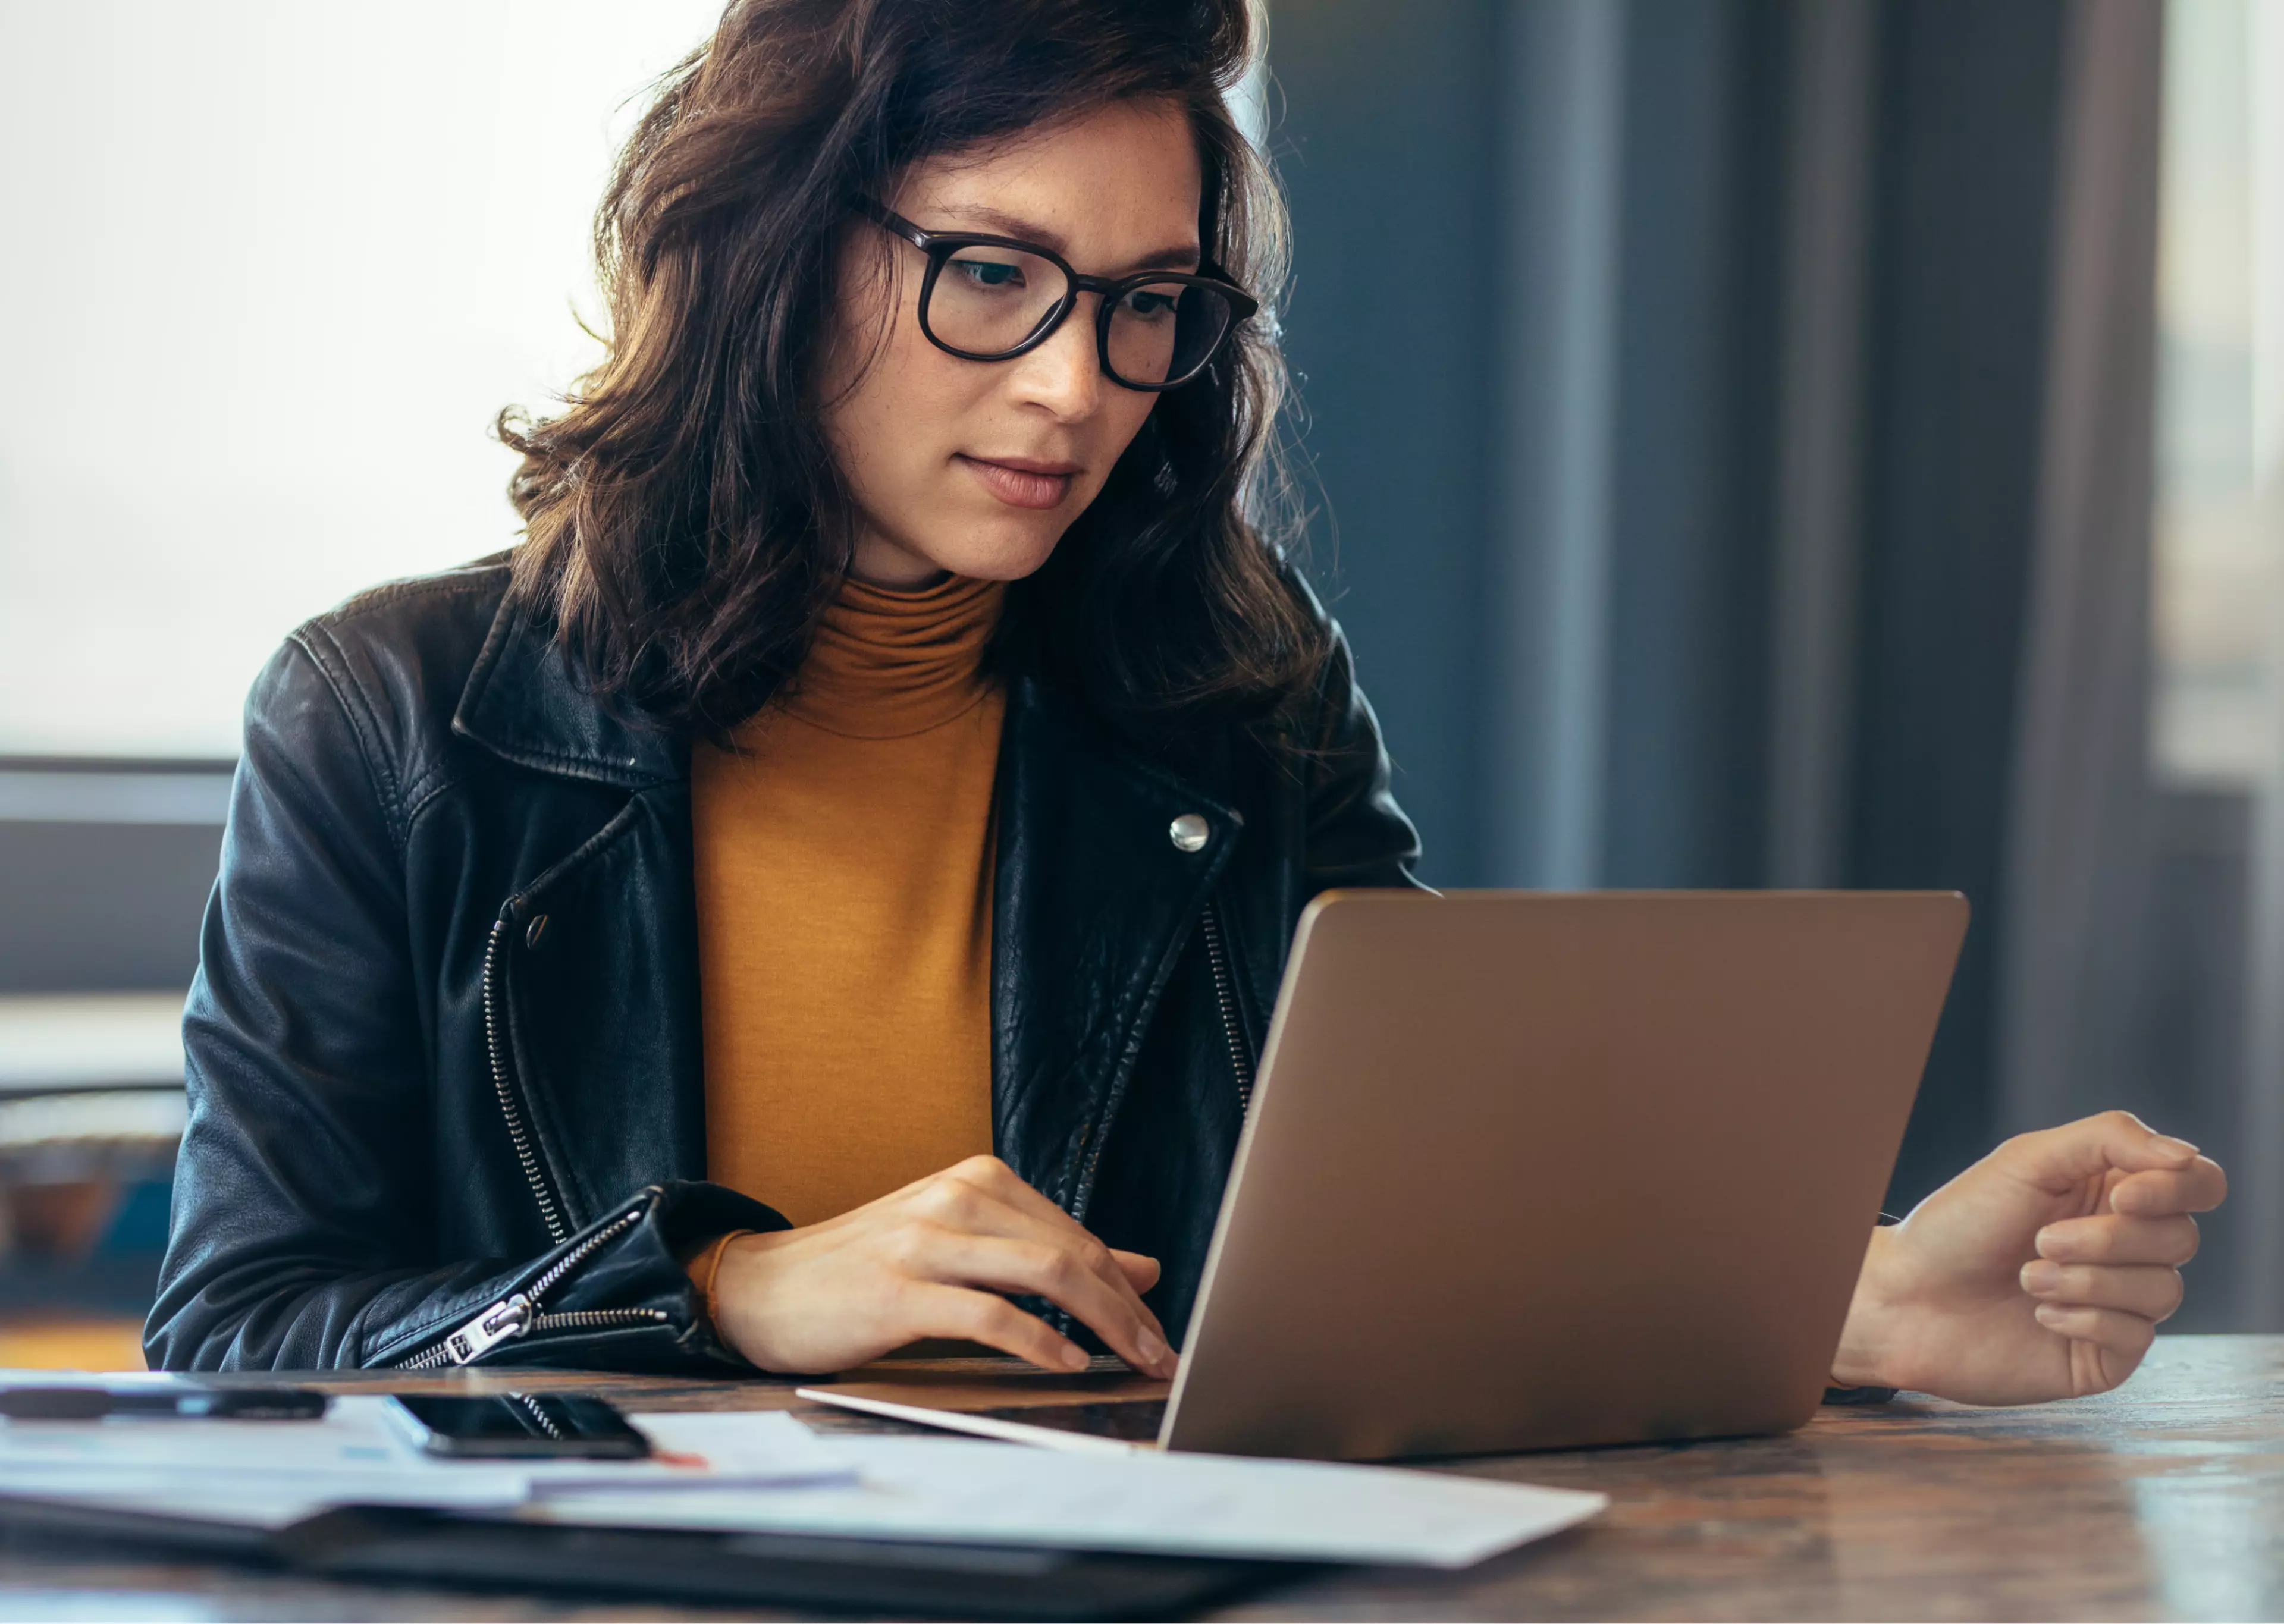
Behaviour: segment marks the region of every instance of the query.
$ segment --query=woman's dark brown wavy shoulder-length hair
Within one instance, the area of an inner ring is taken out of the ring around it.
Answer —
[[[818,411],[850,199],[934,153],[1165,98],[1197,137],[1206,258],[1268,304],[1284,203],[1224,101],[1254,43],[1247,0],[735,0],[596,210],[605,359],[555,416],[500,413],[523,455],[518,608],[605,699],[726,738],[799,667],[850,566]],[[1142,740],[1279,715],[1327,653],[1270,521],[1281,400],[1263,315],[1158,400],[1014,582],[994,658]]]

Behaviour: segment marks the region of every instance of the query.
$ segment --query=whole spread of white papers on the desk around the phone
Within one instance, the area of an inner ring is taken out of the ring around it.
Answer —
[[[562,1523],[1466,1567],[1599,1494],[1386,1466],[1064,1455],[818,1437],[783,1412],[628,1416],[665,1462],[441,1462],[338,1398],[324,1421],[0,1423],[0,1494],[279,1528],[329,1505],[512,1508]]]

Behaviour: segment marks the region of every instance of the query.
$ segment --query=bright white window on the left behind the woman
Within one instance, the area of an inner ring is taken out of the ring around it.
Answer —
[[[587,231],[719,0],[0,9],[0,756],[235,756],[349,592],[514,539]]]

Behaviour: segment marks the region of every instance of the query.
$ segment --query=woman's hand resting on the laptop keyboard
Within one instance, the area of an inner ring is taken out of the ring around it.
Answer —
[[[763,1370],[847,1370],[932,1336],[1083,1370],[1078,1343],[998,1295],[1026,1293],[1172,1377],[1165,1327],[1140,1295],[1156,1281],[1156,1259],[1112,1252],[1007,1163],[971,1156],[822,1224],[731,1240],[713,1304],[722,1341]]]

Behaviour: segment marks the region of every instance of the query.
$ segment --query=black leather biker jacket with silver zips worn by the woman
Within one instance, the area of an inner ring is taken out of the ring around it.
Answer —
[[[786,1220],[703,1183],[687,749],[596,704],[505,585],[370,592],[254,688],[155,1368],[738,1364],[676,1254]],[[1165,1263],[1176,1341],[1302,905],[1412,884],[1345,646],[1302,726],[1290,761],[1181,777],[1010,683],[994,1142]]]

